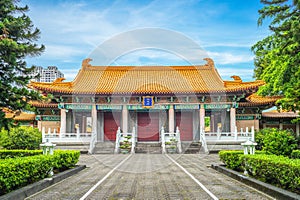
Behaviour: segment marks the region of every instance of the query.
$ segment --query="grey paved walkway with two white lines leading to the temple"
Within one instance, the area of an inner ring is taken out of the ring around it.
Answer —
[[[272,199],[212,163],[218,155],[82,155],[85,170],[28,199]]]

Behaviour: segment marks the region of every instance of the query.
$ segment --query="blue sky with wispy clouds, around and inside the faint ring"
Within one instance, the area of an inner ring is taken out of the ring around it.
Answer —
[[[239,75],[250,81],[254,69],[250,48],[269,34],[267,24],[257,26],[257,11],[263,6],[259,0],[24,0],[21,4],[29,6],[27,14],[41,31],[38,42],[46,46],[41,56],[28,58],[28,64],[58,66],[69,81],[81,68],[82,60],[94,55],[94,50],[103,43],[143,28],[181,34],[215,61],[223,79]],[[160,39],[166,41],[165,46],[171,43],[168,37]],[[128,45],[126,40],[122,43]],[[125,52],[110,64],[186,65],[189,62],[171,51],[144,48]]]

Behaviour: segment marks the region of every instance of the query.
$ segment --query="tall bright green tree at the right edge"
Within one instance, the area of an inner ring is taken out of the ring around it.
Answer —
[[[261,0],[258,25],[271,19],[271,34],[252,46],[256,79],[266,82],[262,95],[280,95],[277,105],[300,109],[300,0]]]

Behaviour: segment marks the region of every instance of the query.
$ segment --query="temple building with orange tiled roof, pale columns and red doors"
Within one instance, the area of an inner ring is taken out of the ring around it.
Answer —
[[[31,82],[48,102],[32,102],[38,127],[58,133],[96,133],[97,141],[114,141],[122,132],[137,142],[159,141],[160,129],[180,130],[182,141],[199,140],[199,131],[234,132],[261,126],[262,110],[279,97],[256,94],[265,83],[224,81],[212,59],[198,66],[91,66],[82,62],[75,79]]]

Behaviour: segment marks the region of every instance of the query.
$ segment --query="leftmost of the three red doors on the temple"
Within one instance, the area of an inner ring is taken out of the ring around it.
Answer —
[[[118,127],[120,126],[120,112],[104,113],[104,140],[115,141]]]

